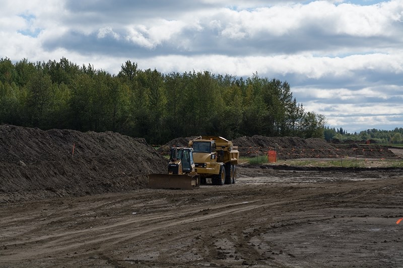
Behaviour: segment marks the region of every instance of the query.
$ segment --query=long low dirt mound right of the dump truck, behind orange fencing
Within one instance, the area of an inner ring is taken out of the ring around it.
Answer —
[[[294,158],[393,158],[397,157],[388,148],[379,145],[330,144],[323,139],[298,137],[240,137],[233,140],[241,156],[265,155],[268,150],[276,150],[278,159]]]

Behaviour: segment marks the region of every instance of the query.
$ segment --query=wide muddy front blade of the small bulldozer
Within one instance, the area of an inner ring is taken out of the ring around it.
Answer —
[[[200,186],[198,175],[157,174],[148,175],[148,187],[153,189],[193,189]]]

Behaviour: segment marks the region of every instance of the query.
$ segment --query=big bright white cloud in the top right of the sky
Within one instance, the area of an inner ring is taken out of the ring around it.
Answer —
[[[283,36],[315,27],[327,35],[359,37],[393,36],[391,23],[401,21],[401,3],[392,1],[372,6],[326,1],[307,5],[289,4],[252,10],[221,9],[206,21],[218,22],[222,35],[232,39],[254,38],[262,34]]]

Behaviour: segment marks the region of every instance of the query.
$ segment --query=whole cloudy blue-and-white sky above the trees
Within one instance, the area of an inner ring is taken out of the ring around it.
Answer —
[[[403,127],[403,0],[0,0],[0,57],[117,74],[211,71],[289,82],[349,133]]]

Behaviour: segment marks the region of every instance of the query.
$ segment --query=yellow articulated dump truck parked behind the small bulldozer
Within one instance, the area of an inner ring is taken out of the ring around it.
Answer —
[[[200,175],[201,184],[211,178],[212,184],[224,185],[236,182],[238,146],[223,137],[199,136],[189,141],[193,148],[195,172]]]

